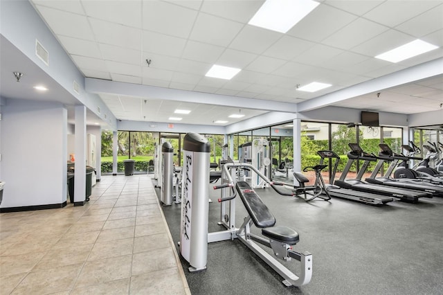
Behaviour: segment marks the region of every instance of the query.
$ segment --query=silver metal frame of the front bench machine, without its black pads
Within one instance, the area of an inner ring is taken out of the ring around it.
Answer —
[[[261,177],[266,184],[274,188],[275,185],[265,175],[257,170],[249,163],[225,163],[221,173],[221,185],[215,188],[221,188],[221,211],[219,225],[225,227],[224,231],[217,231],[208,233],[208,243],[219,242],[223,240],[234,240],[237,238],[246,245],[251,251],[259,256],[267,265],[269,265],[275,272],[277,272],[284,280],[282,283],[289,286],[300,287],[310,282],[312,276],[312,254],[307,251],[297,252],[291,249],[291,245],[284,242],[272,240],[270,238],[262,238],[262,236],[251,233],[251,226],[254,226],[251,216],[244,218],[244,222],[239,228],[235,227],[235,182],[237,168],[248,168],[253,170],[259,177]],[[232,190],[233,194],[228,194]],[[262,244],[272,249],[274,256],[260,247]],[[284,265],[278,259],[283,261],[290,261],[291,258],[300,262],[298,275]]]

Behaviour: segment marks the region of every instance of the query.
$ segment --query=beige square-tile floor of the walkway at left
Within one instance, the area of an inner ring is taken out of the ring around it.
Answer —
[[[150,175],[102,176],[85,206],[1,213],[0,294],[190,294]]]

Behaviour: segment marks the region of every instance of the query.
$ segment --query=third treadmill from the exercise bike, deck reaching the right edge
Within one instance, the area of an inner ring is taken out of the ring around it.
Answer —
[[[435,197],[443,197],[443,186],[425,183],[421,179],[390,178],[389,176],[391,175],[392,170],[397,166],[398,161],[407,161],[408,157],[404,156],[403,154],[396,154],[395,152],[392,152],[390,147],[384,143],[380,143],[379,147],[379,161],[377,163],[377,166],[375,166],[375,169],[372,172],[371,176],[365,179],[366,182],[370,184],[380,184],[383,186],[394,186],[396,188],[419,190],[422,192],[431,193]],[[379,173],[381,167],[383,166],[383,163],[385,162],[391,162],[388,170],[386,171],[386,174],[383,177],[377,177],[377,174]]]

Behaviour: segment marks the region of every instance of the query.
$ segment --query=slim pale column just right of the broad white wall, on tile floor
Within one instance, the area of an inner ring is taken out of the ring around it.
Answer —
[[[86,202],[86,107],[75,106],[74,206]]]

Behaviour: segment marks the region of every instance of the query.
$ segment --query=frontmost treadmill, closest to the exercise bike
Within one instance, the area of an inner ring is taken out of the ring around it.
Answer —
[[[332,164],[334,167],[332,168],[331,176],[329,177],[329,185],[326,186],[327,193],[329,193],[329,195],[332,197],[349,199],[354,202],[360,202],[373,206],[381,206],[394,200],[392,197],[386,197],[384,195],[363,193],[356,190],[341,188],[340,186],[334,186],[332,183],[334,183],[340,157],[338,157],[338,154],[332,152],[331,150],[319,150],[317,154],[320,156],[320,165],[323,165],[323,161],[325,161],[325,159],[335,159],[334,164]]]

